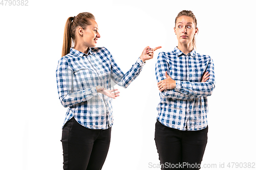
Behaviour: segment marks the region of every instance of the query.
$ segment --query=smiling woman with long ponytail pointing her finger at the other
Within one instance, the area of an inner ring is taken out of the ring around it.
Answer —
[[[123,74],[106,48],[95,47],[98,38],[98,25],[91,13],[68,18],[56,70],[59,100],[69,107],[62,127],[63,169],[102,168],[113,125],[112,98],[119,96],[117,89],[111,90],[111,79],[126,88],[160,48],[144,48]]]

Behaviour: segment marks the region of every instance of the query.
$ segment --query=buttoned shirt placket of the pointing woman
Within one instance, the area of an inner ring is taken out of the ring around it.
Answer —
[[[97,66],[94,64],[93,60],[91,59],[92,56],[94,56],[94,54],[93,54],[93,55],[91,55],[91,54],[86,54],[86,57],[87,57],[88,61],[90,62],[92,68],[94,69],[94,72],[96,72],[96,74],[98,75],[98,78],[100,79],[100,83],[101,83],[100,85],[101,85],[102,87],[104,87],[104,85],[102,84],[103,79],[102,79],[102,77],[101,77],[101,75],[100,75],[101,72],[100,72],[99,69],[97,69]],[[108,107],[108,105],[106,104],[106,98],[107,98],[107,96],[103,94],[102,97],[103,97],[103,101],[104,101],[105,108],[106,108],[106,125],[108,125],[108,127],[110,127],[110,112],[109,112],[109,107]]]

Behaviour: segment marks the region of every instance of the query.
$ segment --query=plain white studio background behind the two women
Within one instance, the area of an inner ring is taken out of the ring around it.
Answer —
[[[2,0],[1,0],[2,1]],[[14,1],[14,0],[12,0]],[[4,4],[6,1],[4,1]],[[68,17],[95,15],[101,38],[126,72],[143,48],[162,46],[126,89],[115,86],[114,126],[106,169],[160,169],[154,141],[159,101],[155,62],[177,45],[175,17],[197,17],[197,52],[214,59],[208,143],[202,164],[255,162],[255,1],[32,1],[0,5],[1,169],[62,169],[55,70]],[[256,166],[256,165],[255,165]],[[202,169],[217,169],[212,167]],[[232,168],[230,168],[232,169]],[[233,168],[243,169],[243,168]]]

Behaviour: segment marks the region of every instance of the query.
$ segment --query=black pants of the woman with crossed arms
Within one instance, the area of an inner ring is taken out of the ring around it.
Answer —
[[[199,131],[181,131],[157,120],[155,141],[161,169],[200,169],[207,133],[208,127]]]

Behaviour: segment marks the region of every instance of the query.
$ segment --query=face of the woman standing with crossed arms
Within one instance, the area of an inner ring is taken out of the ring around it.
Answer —
[[[174,32],[177,35],[179,44],[192,44],[198,29],[192,17],[182,15],[177,18]]]

